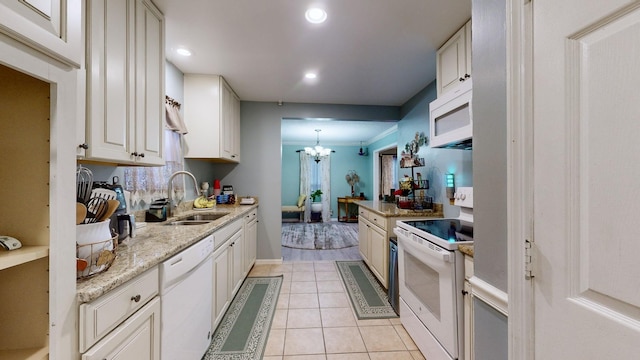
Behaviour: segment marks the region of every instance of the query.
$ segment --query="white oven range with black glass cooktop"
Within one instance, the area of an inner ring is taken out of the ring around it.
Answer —
[[[426,359],[464,357],[464,256],[473,244],[473,188],[456,189],[455,219],[398,220],[400,320]]]

